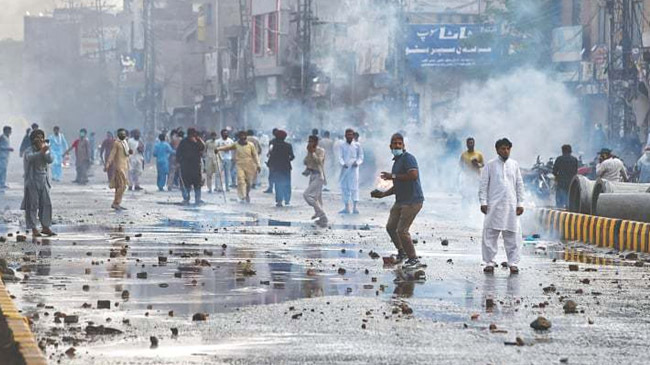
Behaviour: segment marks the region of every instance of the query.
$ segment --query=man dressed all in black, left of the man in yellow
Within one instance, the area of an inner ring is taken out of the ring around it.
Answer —
[[[199,137],[194,128],[187,130],[187,137],[181,141],[176,149],[176,161],[181,170],[181,190],[183,204],[190,204],[190,189],[194,190],[194,203],[200,205],[201,200],[201,156],[205,151],[205,142]]]

